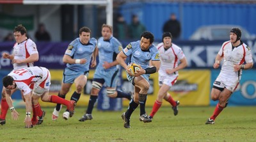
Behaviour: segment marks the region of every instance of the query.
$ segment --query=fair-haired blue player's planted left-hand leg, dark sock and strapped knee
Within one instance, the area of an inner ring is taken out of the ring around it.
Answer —
[[[92,120],[93,107],[95,105],[95,102],[98,99],[99,91],[101,90],[104,82],[105,82],[104,79],[95,79],[95,78],[93,79],[92,90],[91,90],[88,107],[87,107],[86,113],[82,116],[82,118],[79,119],[79,122],[84,122],[85,120]]]

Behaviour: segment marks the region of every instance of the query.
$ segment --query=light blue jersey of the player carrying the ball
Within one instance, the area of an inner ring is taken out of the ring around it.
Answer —
[[[131,63],[141,65],[143,69],[149,67],[149,61],[160,61],[159,52],[155,45],[150,45],[147,51],[141,51],[140,40],[129,43],[123,50],[126,56],[131,55]]]

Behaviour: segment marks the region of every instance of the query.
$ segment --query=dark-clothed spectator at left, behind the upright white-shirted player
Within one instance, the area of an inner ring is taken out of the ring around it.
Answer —
[[[46,31],[44,24],[41,23],[38,25],[38,29],[35,33],[35,38],[37,41],[45,41],[45,42],[51,41],[51,36]]]

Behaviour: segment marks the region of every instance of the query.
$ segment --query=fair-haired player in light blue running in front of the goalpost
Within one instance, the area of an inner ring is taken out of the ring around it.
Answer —
[[[123,48],[122,44],[112,36],[112,32],[113,29],[111,26],[106,24],[102,25],[102,37],[98,40],[99,64],[93,76],[88,108],[84,116],[79,119],[80,122],[92,120],[93,106],[104,83],[106,83],[108,97],[127,98],[131,100],[131,95],[129,93],[116,90],[116,81],[118,79],[118,67],[116,67],[118,62],[116,61],[116,55],[122,51]]]

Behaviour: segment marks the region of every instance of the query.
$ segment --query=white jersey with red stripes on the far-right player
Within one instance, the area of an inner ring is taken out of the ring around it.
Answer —
[[[220,74],[226,77],[237,77],[242,74],[242,70],[239,72],[234,71],[234,65],[242,65],[244,61],[246,63],[253,62],[250,48],[243,42],[238,47],[234,47],[234,49],[232,49],[230,41],[224,42],[218,54],[223,57]]]

